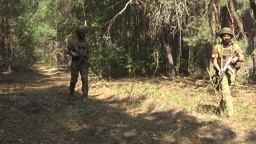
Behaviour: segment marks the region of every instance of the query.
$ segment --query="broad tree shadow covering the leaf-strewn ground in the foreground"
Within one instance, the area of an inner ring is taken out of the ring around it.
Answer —
[[[1,144],[219,144],[254,143],[256,133],[239,141],[237,133],[215,119],[194,116],[182,107],[165,111],[127,109],[133,104],[115,95],[88,103],[67,101],[65,83],[44,87],[58,78],[30,73],[15,78],[0,95]],[[33,81],[33,80],[36,81]],[[11,79],[10,79],[11,80]],[[69,82],[66,82],[69,83]],[[25,86],[23,89],[20,85]],[[3,88],[3,84],[1,85]]]

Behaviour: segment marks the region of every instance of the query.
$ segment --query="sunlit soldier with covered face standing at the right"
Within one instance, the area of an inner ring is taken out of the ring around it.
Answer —
[[[233,37],[233,31],[230,28],[223,28],[220,31],[220,38],[222,41],[219,42],[213,48],[213,64],[216,69],[218,75],[220,75],[221,69],[223,68],[226,60],[230,57],[234,49],[238,48],[240,51],[238,52],[236,57],[233,57],[230,61],[231,66],[234,66],[234,70],[237,71],[239,69],[239,62],[244,62],[243,51],[240,46],[236,43],[231,43],[231,38]],[[236,80],[236,74],[232,74],[228,69],[223,75],[223,79],[221,81],[220,87],[223,92],[223,97],[220,102],[221,110],[227,111],[227,116],[231,117],[234,114],[233,111],[233,103],[232,103],[232,89],[234,87],[234,83]]]

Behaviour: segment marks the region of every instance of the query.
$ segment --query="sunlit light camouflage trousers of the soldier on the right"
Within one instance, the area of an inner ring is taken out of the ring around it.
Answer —
[[[236,74],[232,74],[230,71],[228,71],[225,73],[221,81],[223,97],[221,99],[220,106],[222,111],[227,111],[228,116],[232,116],[234,114],[231,93],[234,87],[235,80]]]

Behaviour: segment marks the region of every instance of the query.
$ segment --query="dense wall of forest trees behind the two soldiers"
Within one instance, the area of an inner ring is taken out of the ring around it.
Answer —
[[[236,43],[252,59],[241,71],[255,75],[253,0],[42,0],[37,18],[28,20],[36,5],[37,1],[1,1],[2,64],[9,64],[10,57],[15,64],[21,57],[23,63],[31,62],[31,54],[41,54],[34,61],[68,64],[66,45],[76,37],[76,26],[84,24],[94,48],[93,63],[102,73],[197,75],[200,69],[212,68],[218,32],[230,27]],[[22,51],[26,55],[17,53]]]

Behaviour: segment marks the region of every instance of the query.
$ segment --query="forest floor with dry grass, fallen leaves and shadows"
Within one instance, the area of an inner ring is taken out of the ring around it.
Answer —
[[[256,85],[234,90],[235,116],[218,113],[209,80],[89,77],[89,101],[68,101],[67,67],[1,73],[0,144],[253,144]]]

